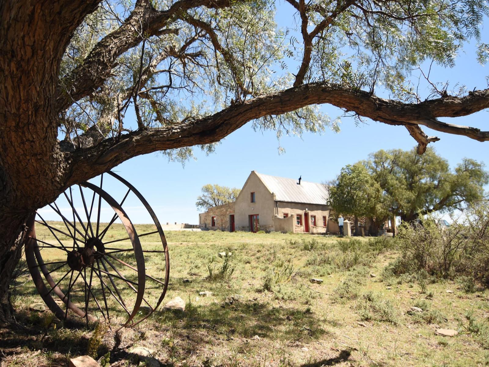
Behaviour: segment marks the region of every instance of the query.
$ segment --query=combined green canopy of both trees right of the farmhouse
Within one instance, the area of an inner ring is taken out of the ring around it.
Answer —
[[[419,214],[464,209],[484,198],[489,173],[484,163],[464,159],[451,170],[432,148],[379,150],[367,161],[347,165],[330,187],[336,212],[369,217],[379,224],[392,215],[403,221]]]

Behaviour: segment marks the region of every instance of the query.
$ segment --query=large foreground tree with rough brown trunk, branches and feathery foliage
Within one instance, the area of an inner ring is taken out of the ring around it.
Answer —
[[[292,10],[286,26],[276,6]],[[411,82],[425,62],[454,65],[468,41],[487,63],[488,9],[485,0],[1,1],[0,318],[29,214],[132,157],[185,160],[249,121],[278,137],[337,130],[320,104],[404,126],[420,154],[439,140],[422,126],[489,140],[441,120],[488,108],[489,89],[454,90],[458,81],[429,73],[430,93]]]

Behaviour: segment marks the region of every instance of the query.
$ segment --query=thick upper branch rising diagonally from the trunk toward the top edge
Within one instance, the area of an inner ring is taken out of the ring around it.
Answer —
[[[104,37],[79,67],[74,69],[57,88],[56,105],[59,112],[97,90],[110,76],[117,57],[137,46],[144,38],[170,33],[162,28],[181,19],[188,9],[206,6],[222,8],[229,0],[179,0],[168,10],[157,11],[148,2],[138,1],[131,15],[115,31]],[[177,32],[174,30],[173,32]]]

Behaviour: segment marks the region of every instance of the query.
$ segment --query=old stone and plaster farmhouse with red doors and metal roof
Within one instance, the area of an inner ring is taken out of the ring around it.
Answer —
[[[251,171],[236,202],[199,214],[202,229],[325,233],[330,207],[323,184]]]

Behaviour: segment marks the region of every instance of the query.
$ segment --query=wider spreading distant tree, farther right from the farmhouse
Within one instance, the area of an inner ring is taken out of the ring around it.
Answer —
[[[452,171],[432,148],[422,156],[416,149],[379,150],[364,164],[384,191],[389,211],[403,221],[463,209],[483,198],[489,182],[484,163],[464,158]]]

